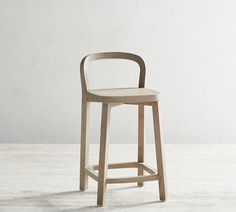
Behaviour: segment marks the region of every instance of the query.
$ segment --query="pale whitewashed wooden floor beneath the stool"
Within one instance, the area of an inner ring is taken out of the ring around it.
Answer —
[[[146,161],[155,163],[148,145]],[[134,161],[135,145],[110,145],[109,162]],[[236,145],[165,145],[168,200],[158,202],[157,184],[109,185],[103,208],[97,186],[79,188],[79,145],[0,145],[2,211],[236,211]],[[91,145],[91,161],[97,146]],[[109,172],[135,174],[134,170]]]

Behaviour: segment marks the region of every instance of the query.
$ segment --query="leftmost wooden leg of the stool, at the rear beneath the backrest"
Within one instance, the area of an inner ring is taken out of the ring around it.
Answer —
[[[88,106],[89,103],[82,99],[81,110],[81,145],[80,145],[80,190],[84,191],[88,188],[88,174],[85,172],[85,167],[88,165],[88,150],[89,144],[87,141],[88,127]]]

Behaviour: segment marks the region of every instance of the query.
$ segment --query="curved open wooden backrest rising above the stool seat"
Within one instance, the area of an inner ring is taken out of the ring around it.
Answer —
[[[81,76],[81,85],[82,85],[82,92],[86,94],[88,90],[88,80],[87,80],[87,64],[90,61],[94,60],[102,60],[102,59],[125,59],[125,60],[132,60],[136,62],[140,67],[140,74],[139,74],[139,84],[140,88],[144,88],[145,86],[145,73],[146,67],[143,59],[136,55],[126,52],[103,52],[103,53],[95,53],[89,54],[85,56],[81,63],[80,63],[80,76]]]

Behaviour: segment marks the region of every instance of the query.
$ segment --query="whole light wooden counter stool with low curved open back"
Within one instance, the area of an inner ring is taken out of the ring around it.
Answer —
[[[140,68],[139,84],[136,88],[111,88],[90,90],[87,83],[87,65],[89,62],[101,59],[126,59],[138,63]],[[144,88],[145,63],[142,58],[135,54],[124,52],[104,52],[90,54],[84,57],[80,64],[82,84],[82,114],[81,114],[81,155],[80,155],[80,190],[84,191],[88,186],[88,176],[98,182],[97,205],[104,203],[106,186],[109,183],[132,183],[137,182],[142,186],[144,181],[158,180],[160,200],[166,199],[163,152],[160,137],[159,114],[158,114],[158,92]],[[99,165],[88,164],[88,106],[90,102],[102,103],[101,137]],[[107,163],[108,129],[111,107],[120,104],[138,105],[138,159],[137,162]],[[144,164],[144,106],[151,106],[153,111],[153,124],[155,135],[155,149],[157,160],[157,172]],[[137,168],[138,176],[126,178],[107,178],[107,169]],[[98,170],[98,174],[96,173]],[[144,175],[144,171],[149,175]]]

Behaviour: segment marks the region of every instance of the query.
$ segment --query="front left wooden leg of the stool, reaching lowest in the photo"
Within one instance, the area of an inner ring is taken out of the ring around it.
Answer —
[[[106,174],[107,174],[107,151],[108,151],[108,130],[110,122],[110,105],[102,104],[101,137],[99,152],[99,170],[98,170],[98,196],[97,205],[102,206],[104,194],[106,192]]]

